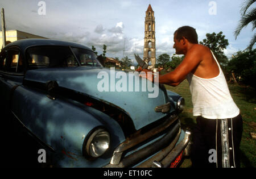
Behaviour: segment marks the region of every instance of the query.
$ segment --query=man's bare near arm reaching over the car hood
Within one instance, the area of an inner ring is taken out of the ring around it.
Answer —
[[[200,46],[194,45],[174,71],[159,76],[159,84],[167,84],[171,86],[179,85],[186,78],[187,74],[200,64],[200,51]]]

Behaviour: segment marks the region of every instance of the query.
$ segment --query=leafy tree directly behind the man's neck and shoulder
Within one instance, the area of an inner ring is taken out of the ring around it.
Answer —
[[[218,60],[221,66],[226,66],[228,64],[228,57],[224,55],[224,49],[229,45],[228,39],[225,39],[225,35],[222,35],[223,32],[216,34],[207,33],[207,39],[204,39],[203,42],[200,41],[200,44],[205,45],[210,48],[214,56]]]

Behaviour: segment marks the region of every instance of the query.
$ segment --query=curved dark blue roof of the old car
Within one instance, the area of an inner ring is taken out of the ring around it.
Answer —
[[[78,43],[74,43],[71,41],[62,41],[62,40],[52,40],[52,39],[22,39],[22,40],[16,40],[12,43],[5,46],[5,48],[16,45],[20,47],[21,49],[25,49],[30,46],[34,45],[59,45],[59,46],[71,46],[71,47],[77,47],[77,48],[85,48],[88,50],[92,50],[85,45],[81,45]]]

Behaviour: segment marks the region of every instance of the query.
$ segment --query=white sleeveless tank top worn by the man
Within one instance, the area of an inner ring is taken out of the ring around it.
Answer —
[[[218,64],[216,57],[214,55],[213,57]],[[187,74],[194,116],[201,115],[208,119],[226,119],[234,118],[240,113],[230,95],[228,84],[219,64],[218,68],[220,73],[214,78],[200,78],[192,73]]]

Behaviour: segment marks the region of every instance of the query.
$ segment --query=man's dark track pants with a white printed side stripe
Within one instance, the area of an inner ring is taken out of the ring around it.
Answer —
[[[242,116],[206,119],[198,116],[193,130],[192,167],[240,167]]]

